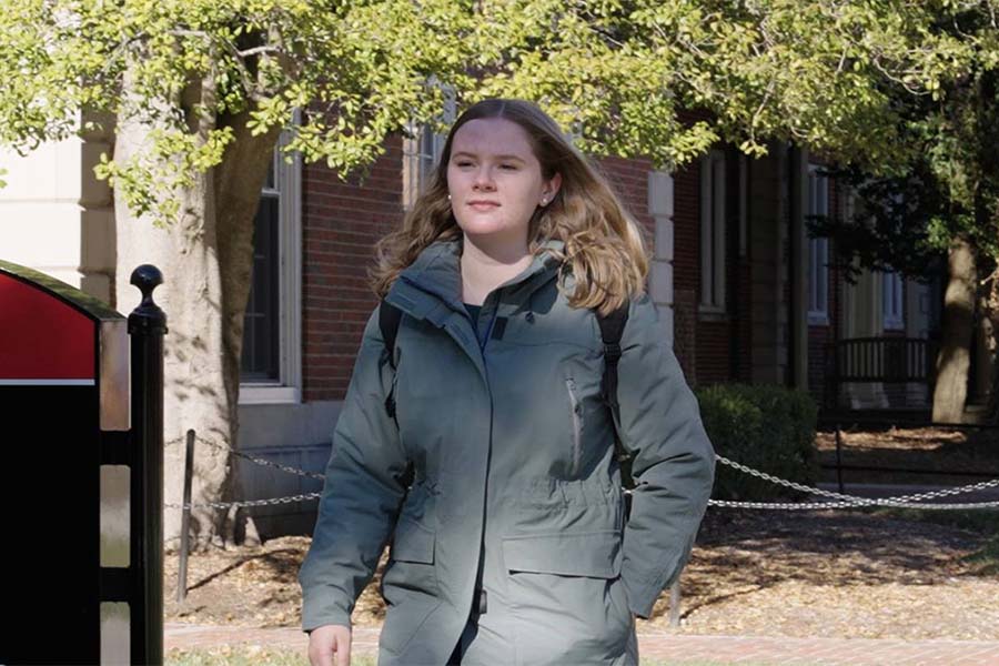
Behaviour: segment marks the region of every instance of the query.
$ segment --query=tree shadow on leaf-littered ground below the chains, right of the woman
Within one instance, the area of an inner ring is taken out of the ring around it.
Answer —
[[[712,508],[684,574],[682,617],[785,582],[930,586],[995,575],[997,534],[995,511]],[[655,615],[667,610],[657,603]]]

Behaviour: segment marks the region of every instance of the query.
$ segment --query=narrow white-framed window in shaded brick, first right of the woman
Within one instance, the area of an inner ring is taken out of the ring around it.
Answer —
[[[725,312],[725,153],[700,161],[700,311]]]

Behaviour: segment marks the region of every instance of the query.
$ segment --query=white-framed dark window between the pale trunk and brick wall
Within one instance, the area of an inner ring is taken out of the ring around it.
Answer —
[[[301,398],[301,160],[282,137],[260,194],[250,299],[243,317],[240,403]]]

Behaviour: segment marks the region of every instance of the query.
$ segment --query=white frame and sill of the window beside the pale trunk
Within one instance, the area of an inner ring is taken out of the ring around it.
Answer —
[[[294,122],[299,122],[299,112],[295,112]],[[295,152],[291,155],[291,162],[285,162],[282,149],[290,140],[287,132],[282,133],[273,155],[275,191],[280,196],[279,379],[271,382],[241,381],[241,405],[302,402],[302,157]]]

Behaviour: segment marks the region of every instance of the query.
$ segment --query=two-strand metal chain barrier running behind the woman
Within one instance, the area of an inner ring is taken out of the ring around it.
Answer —
[[[290,467],[287,465],[281,465],[273,461],[269,461],[266,458],[261,458],[256,456],[252,456],[240,451],[235,451],[234,448],[230,448],[229,446],[224,446],[222,444],[216,444],[210,440],[205,440],[204,437],[195,435],[195,440],[215,448],[216,451],[225,452],[230,455],[234,455],[236,457],[241,457],[243,460],[250,461],[256,465],[261,465],[264,467],[271,467],[273,470],[279,470],[281,472],[285,472],[287,474],[294,474],[297,476],[303,476],[305,478],[314,478],[319,481],[323,481],[325,476],[323,474],[317,474],[314,472],[305,472],[304,470],[299,470],[296,467]],[[185,437],[178,437],[175,440],[171,440],[167,442],[164,446],[170,446],[180,442],[184,442]],[[723,455],[715,454],[715,460],[717,460],[723,465],[727,465],[733,467],[734,470],[738,470],[744,474],[748,474],[750,476],[756,476],[757,478],[761,478],[769,483],[785,486],[795,491],[799,491],[801,493],[807,493],[809,495],[818,495],[821,497],[828,497],[830,501],[827,502],[736,502],[730,500],[708,500],[709,506],[719,506],[725,508],[761,508],[761,509],[781,509],[781,511],[815,511],[815,509],[828,509],[828,508],[858,508],[858,507],[869,507],[869,506],[888,506],[892,508],[921,508],[921,509],[934,509],[934,511],[966,511],[972,508],[999,508],[999,501],[997,502],[963,502],[963,503],[929,503],[925,502],[926,500],[935,500],[939,497],[949,497],[952,495],[960,495],[963,493],[973,493],[976,491],[983,491],[989,488],[999,487],[999,478],[993,478],[991,481],[982,481],[980,483],[969,484],[965,486],[957,486],[952,488],[945,488],[940,491],[930,491],[926,493],[915,493],[910,495],[897,495],[894,497],[860,497],[857,495],[847,495],[844,493],[836,493],[833,491],[825,491],[823,488],[817,488],[814,486],[808,486],[805,484],[796,483],[794,481],[788,481],[786,478],[780,478],[777,476],[773,476],[767,474],[766,472],[760,472],[759,470],[754,470],[747,465],[743,465],[741,463],[737,463],[731,461]],[[246,500],[242,502],[206,502],[203,504],[167,504],[168,508],[219,508],[225,509],[233,506],[272,506],[278,504],[291,504],[293,502],[309,502],[312,500],[317,500],[321,496],[321,493],[309,493],[304,495],[290,495],[286,497],[274,497],[271,500]]]

